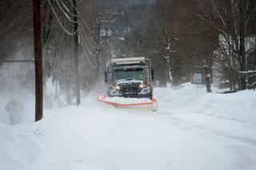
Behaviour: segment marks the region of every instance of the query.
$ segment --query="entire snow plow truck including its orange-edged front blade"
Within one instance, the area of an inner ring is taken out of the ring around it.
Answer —
[[[153,96],[154,69],[145,57],[112,58],[104,72],[106,96],[98,101],[131,109],[157,109]]]

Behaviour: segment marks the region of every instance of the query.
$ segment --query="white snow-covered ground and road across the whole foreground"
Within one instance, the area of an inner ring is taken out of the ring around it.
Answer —
[[[254,170],[256,92],[155,89],[158,112],[96,103],[46,109],[37,123],[0,123],[1,170]]]

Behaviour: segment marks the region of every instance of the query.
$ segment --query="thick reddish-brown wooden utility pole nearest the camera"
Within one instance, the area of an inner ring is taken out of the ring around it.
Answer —
[[[42,31],[40,0],[33,0],[34,69],[35,69],[35,121],[42,119]]]

